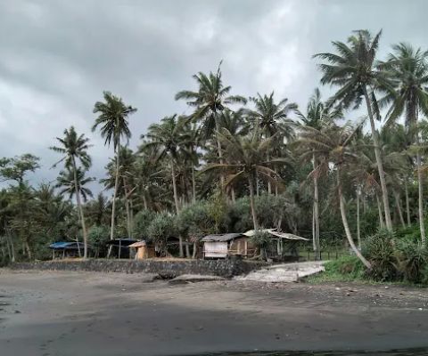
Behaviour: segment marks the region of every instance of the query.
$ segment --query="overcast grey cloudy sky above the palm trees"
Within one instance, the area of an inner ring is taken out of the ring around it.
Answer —
[[[137,108],[133,149],[152,123],[191,113],[174,95],[219,61],[231,93],[274,91],[304,109],[319,86],[314,53],[361,28],[383,29],[381,59],[399,42],[428,49],[426,13],[425,0],[0,0],[0,157],[32,153],[42,167],[29,181],[53,182],[48,148],[74,125],[103,178],[112,148],[91,132],[103,91]]]

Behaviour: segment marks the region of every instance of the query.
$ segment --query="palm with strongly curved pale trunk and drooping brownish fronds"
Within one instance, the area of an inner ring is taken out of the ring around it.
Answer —
[[[350,162],[354,161],[356,157],[350,149],[350,143],[352,142],[356,132],[357,130],[350,125],[344,125],[341,127],[331,124],[326,125],[322,129],[304,126],[300,132],[299,139],[300,150],[302,150],[300,158],[307,159],[312,157],[314,154],[317,155],[317,166],[310,175],[317,174],[317,176],[320,176],[321,174],[328,174],[330,172],[330,165],[333,165],[336,175],[336,189],[339,199],[342,224],[346,238],[348,239],[350,247],[354,251],[355,255],[358,256],[367,268],[371,268],[371,264],[355,246],[350,233],[342,188],[342,175],[345,173]]]

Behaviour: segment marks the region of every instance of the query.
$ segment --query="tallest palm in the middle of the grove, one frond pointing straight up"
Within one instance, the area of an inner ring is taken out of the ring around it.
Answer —
[[[220,131],[221,125],[219,114],[227,109],[228,105],[236,103],[246,103],[246,99],[240,95],[230,95],[232,87],[223,85],[221,79],[221,62],[218,65],[216,74],[210,72],[206,74],[199,72],[193,76],[198,84],[198,91],[192,92],[184,90],[176,94],[176,100],[185,100],[187,104],[195,108],[191,117],[195,121],[202,122],[202,134],[205,138],[210,137],[214,132]],[[223,152],[221,150],[221,142],[217,135],[217,149],[219,162],[223,164]],[[223,184],[223,175],[220,175],[221,183]]]

